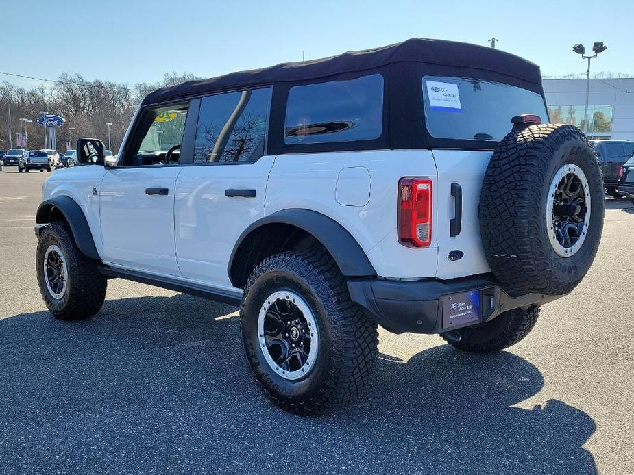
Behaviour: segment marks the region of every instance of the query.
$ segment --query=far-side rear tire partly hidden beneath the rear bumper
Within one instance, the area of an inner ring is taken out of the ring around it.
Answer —
[[[530,307],[526,311],[509,310],[485,324],[441,333],[441,337],[459,350],[473,353],[500,351],[524,339],[535,326],[538,316],[539,307]]]

